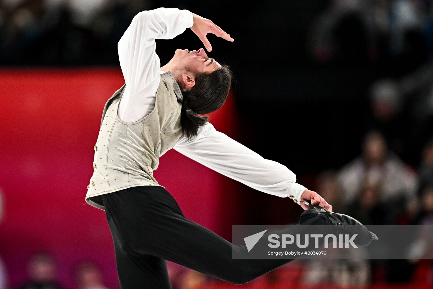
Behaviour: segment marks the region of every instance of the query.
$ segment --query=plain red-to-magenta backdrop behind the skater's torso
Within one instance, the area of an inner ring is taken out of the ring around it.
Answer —
[[[93,172],[93,146],[103,105],[123,85],[119,69],[13,69],[0,71],[0,189],[5,215],[0,256],[16,285],[26,278],[26,260],[48,250],[58,280],[74,288],[72,268],[93,260],[106,284],[118,288],[113,243],[102,210],[84,201]],[[233,99],[210,115],[216,129],[236,138]],[[155,177],[186,217],[229,239],[248,190],[171,150]],[[230,196],[230,202],[226,196]]]

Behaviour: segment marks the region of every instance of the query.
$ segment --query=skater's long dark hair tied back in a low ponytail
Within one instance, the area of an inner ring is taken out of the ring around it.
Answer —
[[[196,136],[198,128],[206,124],[208,117],[204,114],[214,112],[224,104],[233,72],[229,66],[222,65],[211,73],[197,72],[194,77],[195,85],[190,90],[182,91],[182,135],[188,139]]]

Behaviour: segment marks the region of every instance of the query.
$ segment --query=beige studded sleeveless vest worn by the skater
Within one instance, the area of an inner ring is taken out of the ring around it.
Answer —
[[[102,194],[127,187],[161,186],[152,172],[158,167],[159,157],[181,137],[182,93],[170,72],[161,74],[155,108],[137,122],[123,122],[117,116],[125,86],[105,104],[94,146],[94,172],[85,200],[101,210],[105,210]]]

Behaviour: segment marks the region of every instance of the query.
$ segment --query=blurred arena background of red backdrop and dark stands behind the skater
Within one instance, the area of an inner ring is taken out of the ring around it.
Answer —
[[[158,7],[235,39],[208,34],[208,55],[236,79],[210,114],[217,130],[286,165],[336,212],[433,223],[433,1],[0,0],[0,289],[119,288],[105,213],[84,196],[103,105],[124,83],[117,42]],[[163,65],[202,46],[187,29],[157,40],[157,53]],[[302,213],[174,150],[155,177],[187,218],[227,240],[232,225]],[[167,263],[176,289],[433,286],[430,259],[298,260],[241,286]]]

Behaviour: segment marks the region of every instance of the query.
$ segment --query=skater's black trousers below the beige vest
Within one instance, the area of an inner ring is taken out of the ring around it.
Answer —
[[[165,260],[233,284],[244,284],[293,260],[232,259],[232,249],[247,251],[246,246],[234,245],[185,218],[163,187],[130,187],[102,199],[122,289],[171,288]]]

